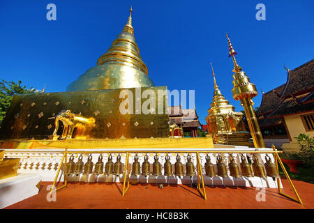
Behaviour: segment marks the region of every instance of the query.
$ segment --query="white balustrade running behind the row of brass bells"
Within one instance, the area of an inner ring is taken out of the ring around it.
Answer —
[[[272,151],[271,148],[247,148],[244,146],[235,146],[234,148],[207,148],[207,149],[201,149],[201,148],[195,148],[195,149],[188,149],[188,151],[199,151],[200,155],[200,162],[202,167],[202,174],[204,178],[205,185],[224,185],[224,186],[244,186],[244,187],[277,187],[277,182],[275,179],[271,177],[267,177],[266,179],[259,178],[259,177],[246,177],[241,176],[239,178],[234,178],[232,176],[229,176],[227,178],[222,178],[220,176],[215,176],[213,178],[209,178],[208,176],[205,176],[205,169],[204,164],[206,162],[205,156],[207,153],[205,151],[248,151],[248,153],[244,153],[244,157],[248,155],[252,160],[252,154],[250,154],[250,151]],[[5,153],[5,157],[9,158],[21,158],[20,161],[20,167],[18,169],[18,173],[37,173],[40,174],[43,178],[43,181],[53,181],[54,177],[57,174],[57,169],[59,167],[59,164],[61,162],[64,149],[7,149]],[[77,151],[77,153],[74,153],[74,162],[77,162],[78,157],[80,155],[80,151],[103,151],[102,149],[68,149],[68,151]],[[125,149],[106,149],[106,151],[126,151]],[[135,149],[133,150],[135,151]],[[142,149],[139,148],[136,151],[138,151],[137,155],[139,157],[139,162],[142,166],[142,162],[144,162],[144,155],[146,153],[142,153],[141,151],[169,151],[168,155],[170,156],[170,162],[173,166],[174,171],[174,163],[177,162],[176,155],[177,153],[173,153],[173,151],[184,151],[184,149]],[[204,151],[204,152],[202,152]],[[87,162],[87,158],[89,157],[89,154],[92,156],[92,162],[94,165],[96,162],[98,162],[98,156],[100,153],[82,153],[83,155],[83,162],[84,164]],[[117,161],[117,155],[121,155],[121,162],[123,163],[123,171],[124,171],[124,164],[126,162],[126,153],[112,153],[112,162]],[[159,153],[159,162],[162,165],[162,173],[164,173],[163,164],[165,163],[165,153]],[[182,154],[182,153],[180,153]],[[228,153],[220,153],[223,157],[223,162],[225,162],[226,167],[228,169],[228,163],[229,163],[229,154]],[[68,153],[67,155],[67,162],[70,159],[71,153]],[[147,153],[149,155],[149,162],[153,164],[154,162],[154,155],[156,153]],[[183,155],[180,155],[182,164],[186,164],[187,162],[187,155],[188,153],[184,153]],[[255,155],[258,157],[261,164],[264,164],[266,162],[265,153],[255,153]],[[109,153],[103,154],[103,162],[104,167],[105,163],[107,162]],[[131,174],[131,167],[134,162],[134,156],[135,153],[129,154],[129,173]],[[234,161],[238,164],[240,167],[240,154],[239,153],[232,153],[232,156],[234,157]],[[197,158],[196,153],[191,153],[192,162],[195,165],[195,171],[196,171],[196,164],[197,164]],[[209,153],[209,157],[211,158],[211,163],[214,164],[214,169],[217,172],[216,167],[216,157],[217,153]],[[274,163],[274,156],[269,153],[269,157],[271,158],[271,162]],[[64,163],[64,161],[63,161]],[[58,180],[63,180],[63,171],[65,170],[64,164],[61,167],[61,171],[59,174]],[[142,171],[142,169],[140,169]],[[191,179],[188,176],[184,176],[182,178],[179,178],[178,176],[172,176],[172,177],[166,177],[166,176],[131,176],[130,181],[132,180],[138,180],[139,183],[184,183],[184,184],[190,184]],[[80,176],[74,176],[74,174],[70,174],[68,176],[68,181],[84,181],[84,182],[123,182],[124,180],[124,174],[121,174],[120,176],[105,176],[104,174],[95,175],[95,174],[89,174],[89,176],[84,176],[84,174],[80,174]],[[192,178],[193,183],[197,183],[197,176],[194,176]]]

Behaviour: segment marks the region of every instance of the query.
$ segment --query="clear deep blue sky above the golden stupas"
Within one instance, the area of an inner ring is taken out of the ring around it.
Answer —
[[[46,6],[57,6],[57,21],[46,20]],[[257,3],[266,21],[257,21]],[[156,86],[195,89],[195,105],[205,123],[213,96],[210,62],[227,100],[232,98],[232,60],[237,61],[259,95],[284,84],[287,68],[313,59],[314,1],[0,1],[0,79],[47,92],[66,91],[122,31],[133,6],[133,27],[142,59]]]

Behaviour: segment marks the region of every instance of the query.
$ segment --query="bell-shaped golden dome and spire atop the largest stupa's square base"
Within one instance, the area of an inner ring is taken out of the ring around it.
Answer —
[[[132,26],[132,7],[128,22],[111,47],[97,61],[97,66],[89,68],[67,91],[103,89],[125,89],[155,86],[148,76],[146,64],[140,56],[140,49]]]

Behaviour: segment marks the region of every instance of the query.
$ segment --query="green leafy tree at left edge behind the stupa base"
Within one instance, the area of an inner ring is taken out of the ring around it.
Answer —
[[[1,79],[0,81],[0,124],[3,118],[6,116],[8,107],[15,94],[34,93],[36,89],[27,89],[27,86],[21,86],[22,81],[17,83],[10,81],[6,82]]]

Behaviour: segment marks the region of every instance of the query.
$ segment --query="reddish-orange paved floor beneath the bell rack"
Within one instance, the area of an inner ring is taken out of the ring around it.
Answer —
[[[69,183],[68,187],[57,192],[57,201],[48,202],[47,185],[44,182],[40,192],[8,206],[7,208],[314,208],[314,185],[293,180],[304,205],[279,195],[276,189],[266,188],[266,201],[256,201],[257,190],[253,187],[207,187],[207,201],[188,185],[130,185],[125,197],[122,197],[121,183]],[[294,193],[287,180],[283,180],[283,192]]]

